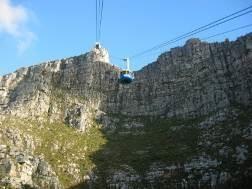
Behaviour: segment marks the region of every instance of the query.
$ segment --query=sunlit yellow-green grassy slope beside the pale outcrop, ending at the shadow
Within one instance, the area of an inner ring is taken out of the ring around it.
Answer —
[[[98,125],[94,125],[87,134],[82,134],[62,123],[9,117],[2,122],[1,127],[18,129],[21,136],[32,136],[36,145],[35,154],[44,156],[64,188],[75,184],[75,180],[82,181],[83,176],[95,166],[90,154],[106,143]],[[7,143],[8,140],[5,141]]]

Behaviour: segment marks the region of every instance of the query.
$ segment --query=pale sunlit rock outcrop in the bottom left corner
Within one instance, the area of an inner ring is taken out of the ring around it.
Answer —
[[[51,166],[33,155],[33,138],[2,123],[0,127],[0,188],[61,188]]]

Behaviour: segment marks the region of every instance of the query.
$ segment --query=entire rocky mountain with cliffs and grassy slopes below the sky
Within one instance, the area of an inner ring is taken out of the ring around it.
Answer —
[[[94,48],[0,77],[0,187],[251,184],[252,34],[119,71]]]

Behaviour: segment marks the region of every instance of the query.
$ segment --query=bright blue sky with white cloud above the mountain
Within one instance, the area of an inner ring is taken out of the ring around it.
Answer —
[[[104,0],[101,43],[114,57],[132,56],[252,5],[251,0]],[[205,38],[252,23],[252,13],[200,33]],[[222,41],[252,27],[209,39]],[[171,47],[131,61],[138,70]],[[0,75],[80,55],[95,43],[95,0],[0,0]],[[112,63],[122,66],[120,60]]]

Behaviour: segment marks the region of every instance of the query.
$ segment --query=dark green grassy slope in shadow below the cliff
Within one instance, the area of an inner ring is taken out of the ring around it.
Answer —
[[[135,117],[133,120],[144,123],[144,127],[127,129],[120,125],[129,121],[128,118],[114,116],[120,117],[119,126],[113,133],[104,131],[107,143],[92,155],[103,178],[122,165],[143,176],[155,162],[171,165],[197,154],[200,130],[194,124],[198,120]]]

